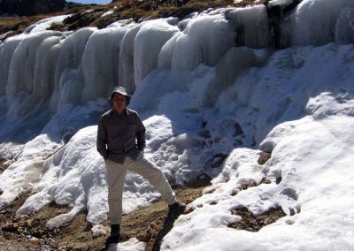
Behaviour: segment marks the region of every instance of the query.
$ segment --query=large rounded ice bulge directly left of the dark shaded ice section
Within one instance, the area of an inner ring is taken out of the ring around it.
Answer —
[[[166,69],[193,70],[197,65],[216,65],[234,45],[235,31],[223,15],[189,20],[183,32],[165,43],[159,65]]]

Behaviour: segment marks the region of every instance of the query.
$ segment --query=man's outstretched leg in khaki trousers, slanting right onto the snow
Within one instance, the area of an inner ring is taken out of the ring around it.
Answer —
[[[158,190],[168,205],[177,202],[176,195],[173,193],[164,173],[159,170],[155,164],[152,164],[149,160],[144,158],[142,153],[136,160],[127,156],[124,164],[127,170],[134,171],[140,174],[144,179],[148,179],[150,184]]]

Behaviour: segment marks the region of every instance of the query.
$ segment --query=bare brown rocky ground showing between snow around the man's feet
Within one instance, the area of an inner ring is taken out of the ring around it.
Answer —
[[[261,156],[258,163],[264,161]],[[266,156],[266,159],[269,155]],[[0,163],[4,170],[4,162]],[[269,183],[264,180],[262,183]],[[174,187],[174,191],[181,202],[193,202],[202,195],[205,187],[210,186],[209,179],[198,179],[184,187]],[[256,184],[243,185],[235,189],[235,195],[240,190],[248,189]],[[210,192],[212,193],[212,191]],[[63,224],[58,229],[50,230],[46,227],[47,221],[59,214],[67,213],[70,208],[50,204],[39,211],[25,217],[16,217],[16,211],[26,201],[29,192],[21,194],[17,200],[6,209],[0,210],[0,250],[105,250],[105,241],[108,232],[104,235],[93,236],[92,225],[86,222],[86,212],[82,212],[71,222]],[[211,202],[212,204],[212,202]],[[203,205],[200,205],[203,206]],[[188,214],[191,209],[184,212]],[[229,227],[250,232],[259,231],[263,226],[272,224],[284,212],[279,209],[271,209],[264,215],[253,216],[247,209],[234,209],[231,213],[242,217],[242,220]],[[121,241],[131,238],[147,243],[146,250],[159,250],[161,240],[173,227],[176,216],[168,214],[165,202],[161,200],[150,206],[137,209],[123,216],[121,226]],[[104,226],[109,229],[106,221]]]

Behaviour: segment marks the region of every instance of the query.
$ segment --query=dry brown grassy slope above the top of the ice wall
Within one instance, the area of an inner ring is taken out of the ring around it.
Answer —
[[[261,0],[258,4],[263,4]],[[119,0],[106,5],[80,5],[67,11],[38,15],[33,17],[0,18],[0,40],[22,33],[26,27],[35,22],[52,16],[72,14],[63,24],[55,23],[51,30],[77,30],[81,27],[104,28],[120,19],[134,19],[141,22],[144,19],[159,19],[177,17],[183,19],[192,12],[201,12],[220,7],[244,7],[254,4],[254,0],[243,0],[235,4],[233,0]],[[105,14],[111,11],[109,14]]]

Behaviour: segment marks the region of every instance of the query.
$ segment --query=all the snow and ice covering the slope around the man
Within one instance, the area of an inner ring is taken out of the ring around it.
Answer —
[[[145,156],[170,183],[212,178],[161,250],[352,250],[352,10],[352,1],[304,0],[288,17],[296,46],[275,51],[264,6],[72,34],[39,30],[47,20],[6,39],[0,156],[12,159],[0,174],[0,208],[31,191],[18,216],[55,202],[71,211],[48,227],[87,210],[92,232],[108,231],[96,124],[112,87],[122,85],[135,91],[130,107],[148,130]],[[271,153],[264,165],[262,151]],[[125,213],[159,197],[127,173]],[[242,219],[231,212],[240,207],[254,215],[280,207],[286,216],[258,232],[227,227]],[[144,248],[131,239],[110,250]]]

